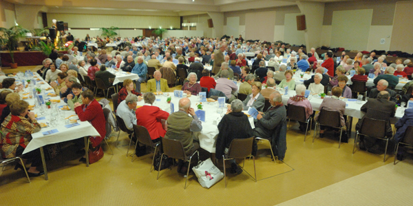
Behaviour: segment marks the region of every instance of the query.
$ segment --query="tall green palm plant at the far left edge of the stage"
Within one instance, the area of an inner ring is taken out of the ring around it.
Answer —
[[[12,28],[0,28],[0,44],[6,45],[10,57],[12,59],[12,63],[10,63],[11,68],[17,68],[17,63],[14,63],[14,49],[17,47],[19,43],[19,38],[25,37],[26,33],[30,32],[22,28],[19,25],[14,25]]]

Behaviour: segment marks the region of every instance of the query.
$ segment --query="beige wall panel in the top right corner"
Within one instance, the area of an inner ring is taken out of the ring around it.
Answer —
[[[413,53],[413,1],[398,2],[392,30],[390,50]]]

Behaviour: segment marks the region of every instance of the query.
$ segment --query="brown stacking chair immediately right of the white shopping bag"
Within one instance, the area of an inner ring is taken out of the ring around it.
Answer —
[[[226,187],[226,169],[225,169],[225,161],[235,159],[235,158],[243,158],[244,163],[242,165],[242,169],[244,169],[245,158],[252,156],[251,153],[253,152],[253,141],[254,137],[250,138],[235,138],[231,141],[229,145],[228,154],[222,155],[222,163],[224,164],[224,181]],[[255,171],[255,157],[253,157],[254,162],[254,181],[257,182],[257,172]]]

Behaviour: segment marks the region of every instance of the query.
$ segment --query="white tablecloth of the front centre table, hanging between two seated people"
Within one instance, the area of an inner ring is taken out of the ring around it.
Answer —
[[[160,109],[165,110],[167,112],[170,112],[170,107],[171,105],[167,103],[167,94],[171,96],[171,103],[173,103],[174,106],[174,112],[178,111],[178,102],[180,98],[173,96],[173,92],[168,92],[163,95],[156,95],[156,99],[160,101],[155,101],[153,103],[154,106],[160,107]],[[189,99],[191,100],[191,107],[194,108],[194,110],[197,109],[196,103],[199,103],[198,97],[197,96],[190,96]],[[138,105],[143,105],[143,101],[138,101]],[[202,103],[203,105],[203,110],[206,111],[205,114],[205,122],[202,122],[202,131],[198,133],[198,138],[200,141],[200,147],[202,149],[207,150],[208,152],[215,153],[215,141],[218,136],[218,123],[221,121],[221,116],[220,114],[217,113],[217,108],[218,108],[218,102],[215,103],[209,103],[205,102]],[[223,113],[226,112],[226,108],[224,108]],[[139,114],[138,114],[139,115]],[[249,117],[248,120],[251,123],[251,127],[255,128],[254,126],[254,121],[252,117]],[[214,124],[214,121],[216,123]]]

